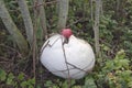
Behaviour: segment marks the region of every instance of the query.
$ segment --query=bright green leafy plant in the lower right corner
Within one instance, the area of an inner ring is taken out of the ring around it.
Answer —
[[[103,84],[110,88],[131,88],[132,70],[124,50],[119,51],[113,59],[107,59],[97,76],[100,88],[103,88]]]

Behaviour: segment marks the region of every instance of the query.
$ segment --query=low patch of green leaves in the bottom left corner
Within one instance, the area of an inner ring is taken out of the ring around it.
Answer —
[[[35,84],[35,78],[25,79],[24,73],[14,76],[12,73],[7,74],[3,69],[0,69],[0,80],[14,88],[34,88]]]

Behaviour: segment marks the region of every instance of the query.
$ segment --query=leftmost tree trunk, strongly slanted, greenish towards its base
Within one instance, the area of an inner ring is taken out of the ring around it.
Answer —
[[[29,52],[28,42],[25,41],[25,38],[23,37],[21,32],[14,24],[14,22],[12,21],[3,0],[0,0],[0,18],[1,18],[2,22],[4,23],[9,33],[13,36],[13,40],[15,41],[20,52],[23,55],[26,55]]]

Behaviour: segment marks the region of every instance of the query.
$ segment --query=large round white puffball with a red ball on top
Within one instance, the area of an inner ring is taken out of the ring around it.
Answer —
[[[41,63],[54,75],[63,78],[82,78],[95,65],[91,46],[74,35],[64,44],[59,34],[50,37],[42,47]]]

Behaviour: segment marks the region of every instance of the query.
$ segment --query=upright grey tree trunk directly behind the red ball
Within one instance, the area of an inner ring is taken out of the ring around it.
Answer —
[[[58,24],[57,24],[57,29],[62,30],[62,29],[66,28],[69,0],[57,0],[57,1],[58,1]]]

